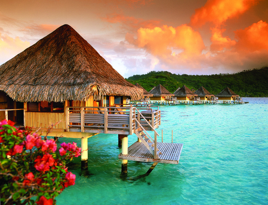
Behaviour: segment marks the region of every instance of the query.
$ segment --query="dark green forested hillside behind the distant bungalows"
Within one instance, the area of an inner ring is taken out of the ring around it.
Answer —
[[[134,75],[127,78],[129,82],[138,83],[147,91],[161,84],[173,93],[178,87],[186,85],[197,90],[201,86],[212,94],[218,94],[229,87],[241,97],[268,96],[268,67],[262,69],[244,70],[235,74],[187,75],[172,74],[168,71],[151,71],[144,75]]]

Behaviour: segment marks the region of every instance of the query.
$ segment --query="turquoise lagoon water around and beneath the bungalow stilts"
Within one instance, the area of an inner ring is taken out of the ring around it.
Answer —
[[[160,106],[164,142],[183,143],[178,165],[129,161],[120,177],[117,135],[88,139],[88,173],[80,158],[76,184],[56,200],[66,204],[268,204],[268,98],[244,105]],[[80,146],[80,140],[74,139]],[[129,136],[129,145],[137,140]],[[161,140],[161,138],[159,139]],[[60,142],[69,142],[68,138]]]

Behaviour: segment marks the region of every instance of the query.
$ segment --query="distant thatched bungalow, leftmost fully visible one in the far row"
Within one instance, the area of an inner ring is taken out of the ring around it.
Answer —
[[[149,91],[150,94],[153,94],[150,97],[151,101],[156,104],[165,104],[166,100],[169,100],[174,94],[170,93],[166,88],[164,88],[161,84],[154,87],[152,90]]]

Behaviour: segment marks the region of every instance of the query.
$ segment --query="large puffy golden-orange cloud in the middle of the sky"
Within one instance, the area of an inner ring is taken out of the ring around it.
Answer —
[[[166,25],[162,28],[139,28],[137,38],[128,33],[126,40],[162,59],[171,56],[199,55],[205,48],[199,32],[194,31],[186,24],[176,28]]]

